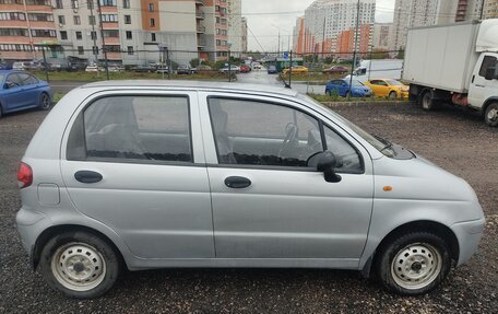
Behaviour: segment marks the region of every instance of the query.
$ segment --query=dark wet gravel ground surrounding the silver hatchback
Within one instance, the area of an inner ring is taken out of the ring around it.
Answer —
[[[173,269],[128,272],[104,298],[70,300],[29,269],[14,226],[17,162],[44,112],[0,120],[0,313],[498,313],[498,129],[476,115],[413,105],[334,109],[366,130],[403,144],[464,177],[487,224],[479,251],[442,287],[400,298],[356,271]]]

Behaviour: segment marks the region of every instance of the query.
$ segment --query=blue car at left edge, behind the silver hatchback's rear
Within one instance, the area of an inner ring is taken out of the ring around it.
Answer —
[[[28,108],[51,106],[50,85],[24,71],[0,70],[0,117]]]

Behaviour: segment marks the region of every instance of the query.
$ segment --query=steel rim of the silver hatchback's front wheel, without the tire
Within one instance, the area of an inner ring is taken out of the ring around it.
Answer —
[[[435,246],[414,243],[398,252],[391,263],[391,276],[400,287],[416,290],[432,283],[441,267],[441,254]]]

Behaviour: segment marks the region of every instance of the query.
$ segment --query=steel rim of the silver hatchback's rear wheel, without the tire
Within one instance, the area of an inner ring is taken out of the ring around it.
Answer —
[[[73,291],[88,291],[104,281],[106,261],[102,254],[86,243],[68,243],[60,246],[51,258],[56,280]]]

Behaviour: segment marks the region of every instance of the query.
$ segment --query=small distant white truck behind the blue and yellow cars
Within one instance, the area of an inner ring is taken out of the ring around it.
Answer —
[[[400,59],[361,60],[359,67],[353,71],[353,79],[361,83],[375,79],[400,80],[402,71],[403,60]]]

